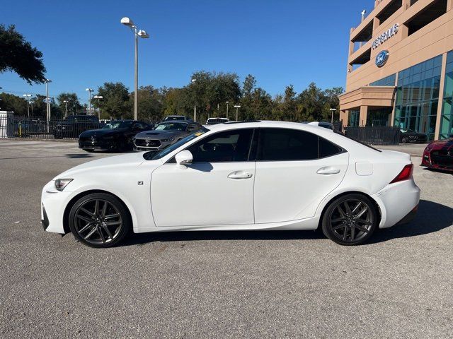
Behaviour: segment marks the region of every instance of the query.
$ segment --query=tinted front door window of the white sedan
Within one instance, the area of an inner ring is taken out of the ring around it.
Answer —
[[[248,161],[253,129],[215,133],[191,145],[193,162]]]

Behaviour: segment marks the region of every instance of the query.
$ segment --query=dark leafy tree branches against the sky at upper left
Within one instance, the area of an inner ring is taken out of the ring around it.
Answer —
[[[42,52],[25,41],[14,25],[0,25],[0,73],[13,71],[31,83],[43,83],[45,66]]]

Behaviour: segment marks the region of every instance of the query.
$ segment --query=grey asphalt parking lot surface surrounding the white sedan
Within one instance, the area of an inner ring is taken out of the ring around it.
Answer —
[[[418,166],[417,218],[338,246],[318,232],[132,235],[91,249],[40,225],[40,191],[110,153],[0,140],[1,338],[452,338],[453,176]]]

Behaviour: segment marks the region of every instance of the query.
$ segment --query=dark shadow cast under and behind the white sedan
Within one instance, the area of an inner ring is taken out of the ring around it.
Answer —
[[[453,208],[432,201],[420,200],[415,220],[378,230],[367,244],[386,242],[390,239],[416,237],[443,230],[453,224]],[[188,242],[197,240],[293,240],[323,239],[319,231],[188,231],[131,234],[122,246],[149,242]]]

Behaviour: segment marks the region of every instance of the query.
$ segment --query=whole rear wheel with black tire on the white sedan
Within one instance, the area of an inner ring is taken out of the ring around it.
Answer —
[[[323,214],[322,230],[333,242],[353,246],[367,242],[378,222],[377,209],[367,196],[347,194],[329,204]]]

